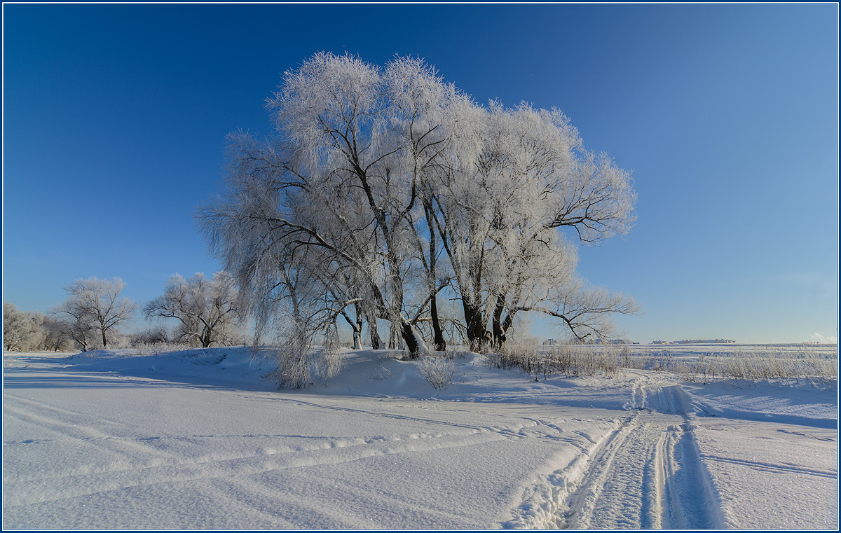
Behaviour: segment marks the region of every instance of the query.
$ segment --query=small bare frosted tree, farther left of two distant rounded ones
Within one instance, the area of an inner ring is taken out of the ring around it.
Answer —
[[[119,277],[77,279],[64,288],[68,297],[53,309],[53,314],[61,319],[65,334],[77,340],[83,350],[87,350],[94,332],[98,332],[102,347],[107,348],[108,336],[119,333],[139,308],[137,303],[120,296],[124,288],[125,282]]]

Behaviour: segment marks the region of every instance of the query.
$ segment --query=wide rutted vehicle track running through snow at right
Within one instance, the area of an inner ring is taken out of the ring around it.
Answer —
[[[723,529],[728,525],[679,385],[637,379],[627,417],[547,476],[505,528]],[[833,472],[826,472],[833,476]]]

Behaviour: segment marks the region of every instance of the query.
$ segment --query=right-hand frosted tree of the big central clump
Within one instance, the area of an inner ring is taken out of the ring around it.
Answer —
[[[559,229],[574,229],[585,244],[627,233],[635,200],[630,175],[584,150],[563,113],[491,103],[480,150],[448,169],[436,193],[468,340],[488,331],[504,342],[522,310],[561,319],[579,340],[610,335],[609,315],[637,306],[621,295],[585,298],[593,292],[575,277],[577,256]],[[573,295],[578,304],[562,309]]]

